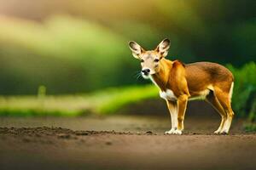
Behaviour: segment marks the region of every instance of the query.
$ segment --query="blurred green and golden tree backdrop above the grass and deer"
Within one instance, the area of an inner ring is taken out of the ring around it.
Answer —
[[[84,93],[145,83],[127,42],[172,40],[169,59],[256,59],[254,0],[0,0],[0,94]]]

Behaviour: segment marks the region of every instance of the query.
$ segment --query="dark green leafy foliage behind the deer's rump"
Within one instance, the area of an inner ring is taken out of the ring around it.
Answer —
[[[256,116],[256,65],[254,62],[236,69],[228,65],[235,76],[232,106],[237,116],[248,116],[255,121]]]

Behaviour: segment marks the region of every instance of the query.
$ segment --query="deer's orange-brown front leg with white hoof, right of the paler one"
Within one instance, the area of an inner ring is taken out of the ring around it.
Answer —
[[[177,98],[177,130],[174,131],[175,134],[182,134],[184,125],[184,116],[188,103],[188,95],[183,94]]]

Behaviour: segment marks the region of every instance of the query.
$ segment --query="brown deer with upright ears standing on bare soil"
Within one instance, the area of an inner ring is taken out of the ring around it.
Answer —
[[[228,134],[234,116],[231,98],[234,77],[226,67],[212,62],[183,64],[166,59],[171,41],[165,38],[154,50],[145,50],[137,42],[128,43],[133,57],[141,62],[141,74],[150,79],[166,100],[172,128],[165,134],[182,134],[184,116],[189,100],[202,99],[221,116],[215,134]]]

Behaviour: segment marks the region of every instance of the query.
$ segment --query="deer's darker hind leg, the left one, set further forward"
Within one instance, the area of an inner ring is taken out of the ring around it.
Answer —
[[[218,134],[222,131],[223,127],[224,127],[224,122],[227,119],[227,114],[224,111],[224,108],[222,107],[222,105],[220,105],[220,103],[218,102],[218,99],[216,97],[216,95],[211,91],[210,94],[207,95],[207,102],[209,104],[212,105],[212,107],[218,111],[218,114],[221,116],[221,122],[220,125],[218,127],[218,129],[214,132],[215,134]]]

